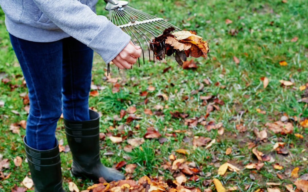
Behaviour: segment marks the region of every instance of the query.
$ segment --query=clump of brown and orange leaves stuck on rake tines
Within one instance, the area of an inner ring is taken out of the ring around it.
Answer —
[[[171,34],[173,30],[173,27],[167,28],[152,40],[150,48],[156,59],[162,60],[165,55],[171,56],[175,53],[176,62],[183,65],[189,56],[207,58],[209,45],[207,41],[202,41],[196,31],[177,31]]]

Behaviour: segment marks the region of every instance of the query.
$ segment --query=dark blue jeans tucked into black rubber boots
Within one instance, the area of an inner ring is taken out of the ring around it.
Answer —
[[[61,113],[67,120],[89,120],[93,50],[72,37],[39,43],[10,34],[29,90],[27,144],[38,150],[55,147]]]

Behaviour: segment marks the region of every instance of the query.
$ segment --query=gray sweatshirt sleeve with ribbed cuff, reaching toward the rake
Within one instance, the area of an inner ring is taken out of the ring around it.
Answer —
[[[98,53],[105,63],[129,43],[130,36],[105,16],[96,15],[77,0],[33,0],[60,29]]]

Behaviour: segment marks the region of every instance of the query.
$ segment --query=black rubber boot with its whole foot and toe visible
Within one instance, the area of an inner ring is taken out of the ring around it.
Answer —
[[[99,158],[99,114],[89,110],[90,120],[69,121],[64,119],[64,127],[73,163],[75,177],[98,180],[103,177],[107,182],[124,179],[124,175],[115,169],[105,167]]]

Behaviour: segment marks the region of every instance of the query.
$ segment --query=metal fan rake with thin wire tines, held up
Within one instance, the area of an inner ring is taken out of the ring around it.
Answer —
[[[163,33],[164,29],[169,27],[176,28],[175,31],[181,29],[164,21],[163,18],[157,18],[153,15],[144,13],[133,7],[128,6],[127,1],[120,0],[104,0],[107,5],[105,9],[109,11],[108,19],[120,27],[125,33],[131,36],[131,41],[134,45],[139,45],[142,49],[141,62],[145,61],[145,55],[148,53],[149,61],[151,61],[150,42],[154,37]],[[152,45],[153,46],[153,45]],[[160,44],[160,46],[164,46]],[[154,50],[154,47],[152,47]],[[147,50],[148,49],[148,50]],[[153,61],[155,61],[155,54],[153,52]],[[138,58],[138,65],[140,67],[140,58]],[[120,70],[120,69],[119,69]],[[107,65],[107,75],[110,72],[110,63]]]

